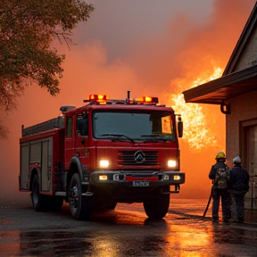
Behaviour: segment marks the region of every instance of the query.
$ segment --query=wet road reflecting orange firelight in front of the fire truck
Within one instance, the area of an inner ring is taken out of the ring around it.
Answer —
[[[205,202],[187,203],[187,208],[175,202],[176,210],[170,203],[163,220],[146,219],[141,204],[118,204],[115,211],[97,213],[90,221],[72,220],[68,206],[60,213],[2,208],[1,257],[256,256],[257,227],[212,224],[202,218]]]

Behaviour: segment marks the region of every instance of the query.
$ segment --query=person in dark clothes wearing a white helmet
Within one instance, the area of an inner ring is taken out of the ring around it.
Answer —
[[[241,158],[236,156],[233,159],[234,167],[229,172],[229,187],[232,201],[235,204],[233,218],[236,222],[244,222],[244,199],[249,190],[249,174],[241,167]]]

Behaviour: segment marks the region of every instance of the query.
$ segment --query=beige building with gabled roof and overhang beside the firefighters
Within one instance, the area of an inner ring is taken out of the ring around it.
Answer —
[[[245,208],[257,209],[257,3],[220,79],[183,92],[186,103],[219,104],[226,115],[228,165],[239,155],[249,171]]]

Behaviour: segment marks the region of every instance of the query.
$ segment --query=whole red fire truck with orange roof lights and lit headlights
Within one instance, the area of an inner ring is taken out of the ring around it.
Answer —
[[[20,192],[35,211],[61,211],[88,220],[117,203],[143,203],[150,219],[165,217],[170,194],[185,183],[178,137],[181,116],[157,97],[110,99],[89,95],[83,106],[62,106],[60,116],[21,126]]]

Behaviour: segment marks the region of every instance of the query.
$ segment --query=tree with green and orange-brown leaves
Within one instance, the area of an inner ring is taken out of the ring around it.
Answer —
[[[94,9],[83,0],[0,0],[0,111],[14,109],[30,84],[59,94],[65,55],[53,42],[70,46],[72,29]]]

